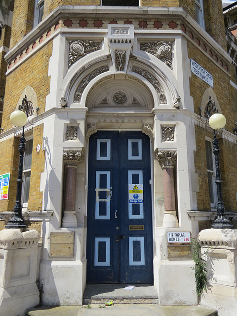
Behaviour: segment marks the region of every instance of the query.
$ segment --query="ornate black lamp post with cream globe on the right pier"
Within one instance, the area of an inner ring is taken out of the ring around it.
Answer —
[[[199,108],[200,113],[201,109]],[[219,164],[219,141],[216,138],[216,129],[221,129],[226,124],[226,118],[221,113],[215,113],[211,115],[211,112],[217,112],[215,101],[211,100],[209,97],[209,101],[205,107],[205,117],[209,119],[209,125],[213,129],[213,154],[215,156],[215,167],[216,167],[216,188],[217,188],[217,218],[214,220],[212,224],[212,228],[216,229],[234,229],[234,225],[231,224],[231,221],[226,218],[225,206],[222,200],[222,189],[221,189],[221,173],[220,173],[220,164]],[[201,117],[201,115],[200,115]]]

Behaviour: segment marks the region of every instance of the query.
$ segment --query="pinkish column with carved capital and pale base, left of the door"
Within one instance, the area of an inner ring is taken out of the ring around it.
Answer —
[[[63,159],[68,163],[66,168],[64,215],[62,227],[78,227],[76,217],[77,164],[84,160],[82,150],[64,150]]]

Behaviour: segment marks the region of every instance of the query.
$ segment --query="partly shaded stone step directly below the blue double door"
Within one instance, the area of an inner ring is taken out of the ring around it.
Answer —
[[[132,290],[125,289],[126,284],[87,284],[83,304],[158,304],[158,294],[153,284],[129,284]]]

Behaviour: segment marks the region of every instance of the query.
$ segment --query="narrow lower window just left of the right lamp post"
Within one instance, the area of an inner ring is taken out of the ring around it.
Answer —
[[[212,153],[212,142],[206,139],[206,164],[207,164],[207,177],[208,177],[208,187],[209,195],[211,200],[211,208],[216,208],[217,206],[217,191],[215,183],[215,161],[214,155]]]

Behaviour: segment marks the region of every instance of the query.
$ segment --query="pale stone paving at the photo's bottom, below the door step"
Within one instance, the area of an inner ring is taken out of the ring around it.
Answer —
[[[217,316],[203,306],[159,306],[158,304],[88,304],[83,306],[42,306],[29,316]]]

